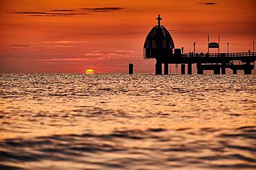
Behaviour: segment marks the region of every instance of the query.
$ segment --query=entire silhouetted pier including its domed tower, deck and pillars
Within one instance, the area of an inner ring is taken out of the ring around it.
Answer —
[[[237,70],[244,70],[244,74],[251,74],[255,66],[255,52],[220,53],[219,42],[210,43],[208,36],[208,52],[183,54],[183,48],[174,48],[174,41],[168,30],[161,25],[162,18],[158,15],[158,25],[154,26],[147,35],[144,44],[144,59],[156,59],[156,74],[169,74],[169,64],[181,64],[181,74],[185,74],[185,65],[188,65],[188,74],[192,74],[192,64],[196,64],[197,74],[204,70],[213,70],[214,74],[226,74],[226,69],[237,74]],[[210,54],[210,48],[217,48],[218,53]]]

